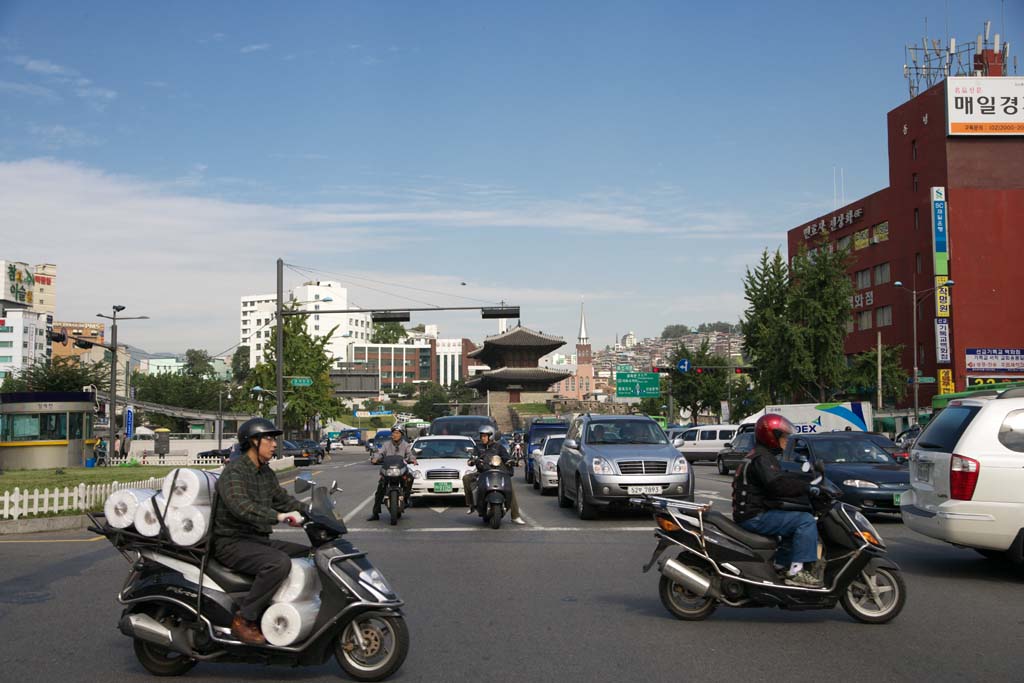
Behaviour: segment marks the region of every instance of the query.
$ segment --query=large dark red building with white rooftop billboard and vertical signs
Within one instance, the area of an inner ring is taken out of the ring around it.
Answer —
[[[987,65],[990,76],[942,81],[889,112],[888,187],[787,233],[791,259],[801,246],[816,247],[821,234],[829,246],[850,245],[848,355],[874,348],[881,331],[884,345],[903,345],[910,373],[916,289],[920,374],[939,380],[921,385],[924,408],[950,383],[961,391],[969,383],[1024,380],[1024,79],[1002,76],[998,57],[984,55],[995,60]],[[948,103],[947,88],[954,89]],[[957,123],[967,109],[991,100],[1009,123]],[[955,285],[929,292],[946,267]]]

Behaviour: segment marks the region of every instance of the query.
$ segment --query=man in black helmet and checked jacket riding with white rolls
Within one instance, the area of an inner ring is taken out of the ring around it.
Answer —
[[[278,450],[280,434],[282,430],[269,420],[243,422],[239,427],[242,455],[224,466],[216,486],[213,556],[224,566],[255,577],[231,621],[231,633],[250,645],[266,642],[259,620],[274,591],[288,579],[291,558],[309,553],[306,546],[270,539],[273,524],[287,521],[299,526],[308,511],[308,506],[282,488],[267,465]]]

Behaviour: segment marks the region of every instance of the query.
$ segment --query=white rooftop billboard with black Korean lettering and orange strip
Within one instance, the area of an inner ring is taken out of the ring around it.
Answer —
[[[946,78],[948,135],[1024,135],[1024,79]]]

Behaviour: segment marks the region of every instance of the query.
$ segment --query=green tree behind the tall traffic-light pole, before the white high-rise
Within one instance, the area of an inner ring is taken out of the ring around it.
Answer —
[[[295,310],[293,306],[292,310]],[[337,418],[342,413],[342,404],[334,395],[331,382],[331,368],[335,359],[328,352],[328,344],[337,328],[332,328],[323,336],[312,336],[306,330],[307,315],[286,315],[284,322],[284,374],[293,377],[308,377],[312,385],[293,387],[286,380],[285,424],[288,431],[308,431],[314,419],[321,422]],[[276,334],[271,329],[270,336]],[[244,399],[241,408],[259,412],[272,418],[276,403],[272,392],[276,386],[276,351],[271,345],[266,350],[265,360],[246,378]],[[254,394],[253,387],[268,391]],[[265,394],[265,395],[264,395]]]

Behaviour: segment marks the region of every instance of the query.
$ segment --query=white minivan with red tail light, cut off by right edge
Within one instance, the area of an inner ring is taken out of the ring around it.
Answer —
[[[949,401],[910,450],[914,531],[1024,562],[1024,389]]]

